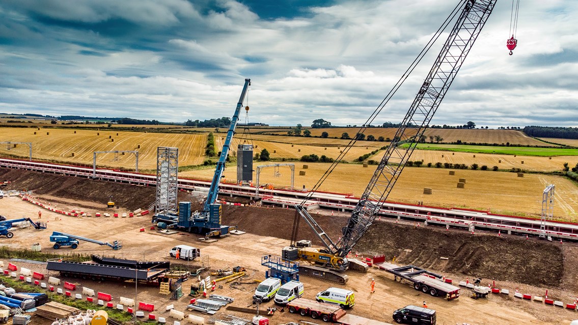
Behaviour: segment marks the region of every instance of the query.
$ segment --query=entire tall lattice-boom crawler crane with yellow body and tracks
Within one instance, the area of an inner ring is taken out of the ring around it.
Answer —
[[[381,158],[369,184],[357,202],[347,221],[347,226],[343,227],[343,236],[339,241],[332,241],[313,217],[307,213],[302,204],[295,205],[296,213],[291,234],[291,246],[283,249],[283,257],[291,260],[310,261],[321,266],[301,263],[299,265],[301,274],[344,283],[347,281],[347,275],[342,273],[345,269],[367,270],[367,265],[364,263],[357,260],[347,260],[347,254],[351,252],[351,249],[375,220],[376,213],[383,206],[387,195],[391,192],[403,167],[416,148],[417,142],[423,136],[429,121],[442,102],[465,57],[486,24],[496,1],[464,0],[454,9],[456,14],[459,13],[458,20],[428,76],[418,90],[416,98],[394,138],[387,146],[386,153]],[[461,12],[459,11],[460,8]],[[387,101],[381,102],[379,110],[376,112],[383,108],[385,102]],[[325,246],[324,249],[295,246],[301,217],[305,219],[321,240]]]

